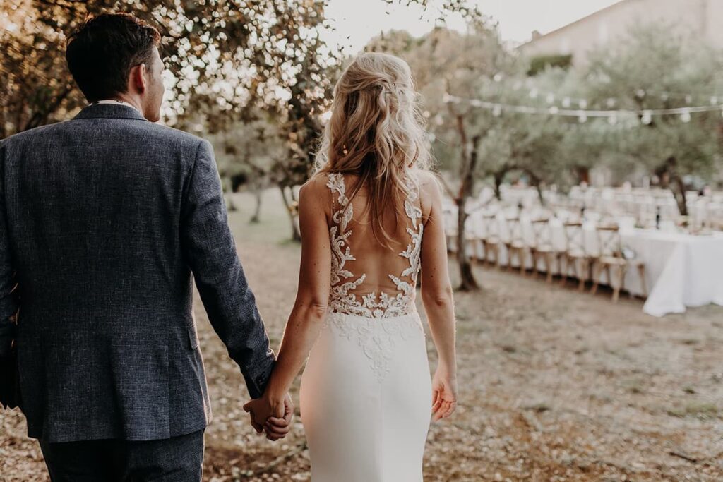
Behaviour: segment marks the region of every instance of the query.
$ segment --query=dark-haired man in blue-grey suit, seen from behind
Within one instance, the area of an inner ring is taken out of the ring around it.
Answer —
[[[21,408],[53,481],[200,481],[192,279],[252,397],[275,363],[210,143],[153,124],[159,40],[129,15],[87,20],[66,56],[90,105],[0,142],[0,355],[17,314]],[[285,412],[269,439],[288,396]]]

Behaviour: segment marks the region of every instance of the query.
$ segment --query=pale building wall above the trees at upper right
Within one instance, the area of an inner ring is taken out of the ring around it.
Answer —
[[[572,54],[586,64],[588,53],[621,40],[650,23],[672,25],[675,33],[723,47],[723,0],[623,0],[520,46],[526,56]]]

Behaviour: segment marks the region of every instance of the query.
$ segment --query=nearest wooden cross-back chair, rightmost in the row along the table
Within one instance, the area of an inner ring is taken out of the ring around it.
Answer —
[[[599,226],[596,228],[598,252],[593,258],[593,285],[591,293],[597,293],[600,277],[604,271],[607,275],[607,282],[612,288],[612,301],[620,298],[620,291],[625,288],[625,273],[628,267],[635,267],[640,276],[643,296],[648,295],[645,283],[645,263],[639,259],[625,259],[623,255],[623,243],[620,238],[620,228],[617,226]],[[615,272],[615,280],[613,279]]]

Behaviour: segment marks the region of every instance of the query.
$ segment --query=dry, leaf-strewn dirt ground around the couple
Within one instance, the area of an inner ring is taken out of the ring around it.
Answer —
[[[231,213],[241,262],[278,348],[296,291],[299,246],[265,194]],[[456,276],[454,267],[451,268]],[[425,481],[723,481],[723,308],[657,319],[642,301],[578,293],[476,267],[479,293],[456,293],[458,411],[432,423]],[[205,481],[308,481],[298,416],[272,443],[241,408],[247,391],[195,300],[214,418]],[[436,353],[429,340],[432,370]],[[46,481],[22,414],[0,412],[0,481]],[[343,481],[340,481],[343,482]]]

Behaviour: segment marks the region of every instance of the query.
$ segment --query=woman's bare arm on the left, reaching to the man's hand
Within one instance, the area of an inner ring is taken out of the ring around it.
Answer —
[[[273,372],[262,397],[270,405],[272,413],[283,413],[286,392],[309,356],[326,316],[331,272],[327,191],[322,178],[317,177],[304,184],[299,192],[299,288],[294,309],[286,322]]]

